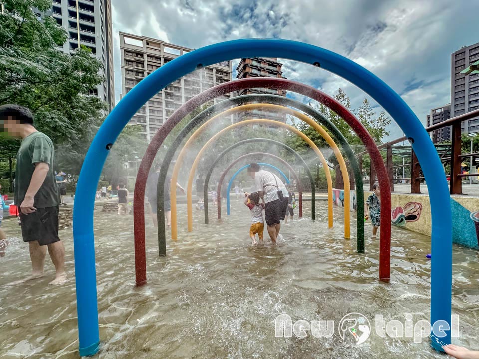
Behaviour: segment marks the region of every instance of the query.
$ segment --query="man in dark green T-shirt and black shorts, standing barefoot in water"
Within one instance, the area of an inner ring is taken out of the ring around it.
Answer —
[[[32,274],[43,276],[46,250],[55,265],[50,284],[66,282],[65,249],[58,238],[59,193],[54,175],[55,148],[48,136],[33,126],[33,115],[17,105],[0,106],[0,122],[10,136],[21,137],[16,155],[15,204],[24,242],[29,242]]]

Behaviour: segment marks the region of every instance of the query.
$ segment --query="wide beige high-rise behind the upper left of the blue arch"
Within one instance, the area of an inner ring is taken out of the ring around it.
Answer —
[[[127,94],[145,76],[169,61],[192,51],[161,40],[120,32],[122,93]],[[149,141],[173,112],[200,92],[231,81],[231,61],[194,71],[166,86],[153,96],[130,120],[140,125]],[[221,96],[215,101],[230,98]]]

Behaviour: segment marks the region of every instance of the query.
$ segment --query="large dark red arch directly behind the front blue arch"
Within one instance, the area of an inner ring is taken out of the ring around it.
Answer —
[[[280,78],[247,78],[237,81],[226,82],[221,85],[217,85],[203,91],[197,96],[188,100],[178,110],[176,110],[158,132],[151,139],[150,144],[143,156],[140,167],[138,169],[138,175],[135,183],[134,191],[134,231],[135,231],[135,257],[139,258],[137,268],[137,284],[146,283],[146,275],[141,277],[138,273],[146,273],[145,262],[145,188],[148,173],[150,171],[153,160],[158,152],[158,149],[162,145],[166,136],[171,130],[191,111],[198,106],[201,106],[205,102],[208,102],[215,97],[225,95],[227,93],[249,89],[249,88],[275,88],[284,89],[293,92],[297,92],[304,96],[308,96],[313,100],[316,100],[323,105],[329,107],[339,116],[341,116],[351,126],[356,135],[361,139],[368,151],[371,161],[378,176],[379,185],[382,189],[381,196],[381,227],[380,227],[380,239],[379,239],[379,279],[382,281],[389,281],[390,278],[390,252],[391,252],[391,190],[389,187],[389,178],[384,165],[381,153],[378,150],[374,139],[369,132],[363,126],[363,124],[333,97],[325,94],[324,92],[315,89],[314,87],[304,85],[299,82],[280,79]]]

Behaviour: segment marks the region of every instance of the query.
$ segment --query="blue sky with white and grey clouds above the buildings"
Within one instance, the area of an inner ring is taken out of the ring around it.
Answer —
[[[190,48],[238,38],[283,38],[356,61],[397,91],[425,122],[432,107],[450,102],[450,54],[479,42],[479,1],[471,0],[112,0],[112,12],[117,100],[118,31]],[[330,94],[341,87],[353,108],[367,97],[325,70],[284,62],[288,79]],[[390,138],[402,135],[397,126],[390,131]]]

